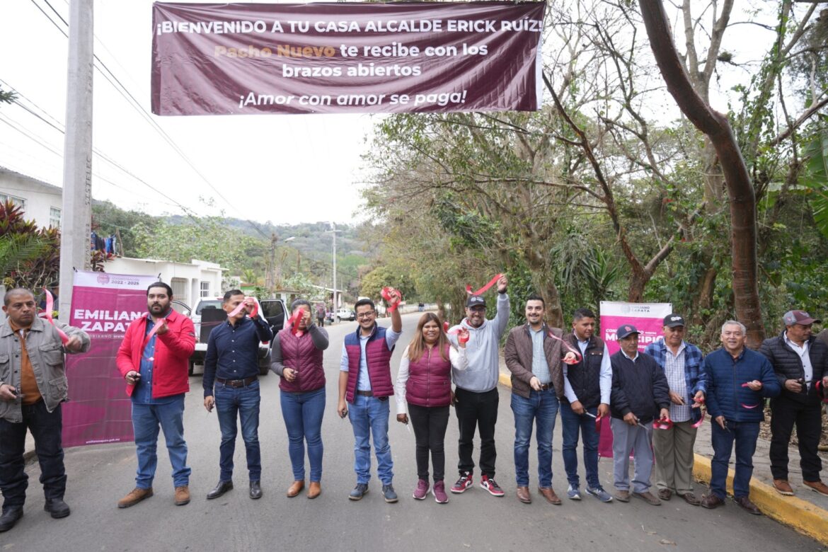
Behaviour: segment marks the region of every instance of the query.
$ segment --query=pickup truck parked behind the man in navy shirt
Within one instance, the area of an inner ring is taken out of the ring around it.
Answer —
[[[190,376],[195,373],[196,364],[204,366],[209,333],[227,319],[227,313],[221,308],[222,300],[222,297],[202,297],[190,314],[190,319],[195,325],[195,351],[190,356]],[[266,299],[256,302],[259,305],[259,313],[267,320],[273,334],[285,327],[287,309],[283,300]],[[270,371],[270,343],[259,343],[258,365],[259,374],[267,376],[267,372]]]

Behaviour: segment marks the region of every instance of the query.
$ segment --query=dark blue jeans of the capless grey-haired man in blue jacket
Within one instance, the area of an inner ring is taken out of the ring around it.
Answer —
[[[759,436],[758,422],[724,421],[721,429],[716,420],[710,420],[713,443],[713,461],[710,463],[710,492],[724,500],[727,496],[727,469],[730,454],[736,443],[736,475],[733,478],[733,496],[747,497],[750,477],[753,475],[753,453]]]

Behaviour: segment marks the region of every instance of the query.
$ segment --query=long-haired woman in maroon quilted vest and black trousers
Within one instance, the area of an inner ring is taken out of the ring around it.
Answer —
[[[465,343],[469,330],[458,335],[460,348],[454,348],[443,333],[443,323],[434,313],[423,314],[411,343],[402,352],[394,396],[397,397],[397,421],[408,424],[411,414],[416,439],[417,482],[414,498],[428,494],[428,454],[434,466],[434,499],[449,502],[445,494],[445,451],[443,441],[449,424],[451,403],[451,367],[465,370]],[[408,403],[408,413],[406,412]]]

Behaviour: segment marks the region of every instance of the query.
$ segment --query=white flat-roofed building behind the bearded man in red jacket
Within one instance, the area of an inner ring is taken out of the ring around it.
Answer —
[[[128,274],[132,276],[156,276],[172,288],[173,299],[195,307],[200,297],[213,297],[224,294],[222,289],[222,268],[214,262],[199,261],[172,262],[156,259],[133,259],[115,257],[103,265],[109,274]]]

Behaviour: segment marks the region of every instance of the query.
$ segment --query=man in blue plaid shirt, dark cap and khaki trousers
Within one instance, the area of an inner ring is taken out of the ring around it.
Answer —
[[[701,419],[699,406],[705,401],[705,387],[700,380],[703,355],[696,345],[684,340],[684,317],[664,317],[664,339],[644,348],[667,377],[670,386],[670,420],[672,425],[652,434],[656,457],[658,497],[670,500],[675,491],[685,502],[699,506],[693,494],[693,445],[696,422]]]

